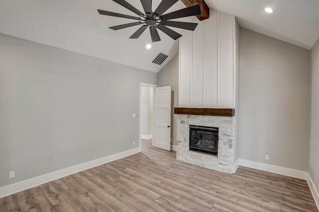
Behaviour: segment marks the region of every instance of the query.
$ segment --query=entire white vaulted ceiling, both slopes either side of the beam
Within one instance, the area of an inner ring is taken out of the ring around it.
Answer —
[[[127,1],[143,11],[140,0]],[[319,0],[205,1],[210,8],[236,15],[242,27],[295,45],[310,49],[319,37]],[[153,0],[153,9],[159,3]],[[274,13],[266,13],[267,6]],[[178,1],[167,12],[183,7]],[[112,0],[0,0],[0,32],[154,72],[177,53],[178,40],[160,30],[160,42],[151,42],[148,29],[139,39],[129,39],[140,26],[118,31],[108,27],[134,20],[99,15],[97,9],[135,15]],[[151,49],[146,49],[148,43]],[[159,66],[152,61],[160,52],[169,57]]]

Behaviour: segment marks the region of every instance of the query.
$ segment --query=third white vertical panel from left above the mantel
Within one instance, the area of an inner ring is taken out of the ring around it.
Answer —
[[[206,108],[217,107],[217,10],[210,10],[210,17],[204,21],[205,64],[204,98]]]

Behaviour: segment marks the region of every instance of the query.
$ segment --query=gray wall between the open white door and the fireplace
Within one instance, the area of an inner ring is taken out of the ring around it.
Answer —
[[[158,73],[158,86],[171,86],[172,104],[171,104],[171,138],[173,145],[176,145],[176,115],[174,107],[178,107],[178,71],[179,54],[177,53]]]

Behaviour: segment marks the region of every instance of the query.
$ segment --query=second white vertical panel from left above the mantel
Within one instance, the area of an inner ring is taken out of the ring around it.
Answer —
[[[192,34],[192,67],[191,67],[191,106],[203,107],[203,29],[204,21],[198,25]]]

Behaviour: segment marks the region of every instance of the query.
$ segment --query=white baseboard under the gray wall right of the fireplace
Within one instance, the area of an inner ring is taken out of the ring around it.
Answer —
[[[272,172],[280,175],[286,175],[289,177],[299,178],[306,180],[308,172],[303,172],[295,169],[289,169],[284,167],[278,167],[274,165],[269,164],[263,164],[255,161],[248,161],[244,159],[239,159],[239,165],[244,167],[250,167],[254,169],[259,169],[267,172]]]

